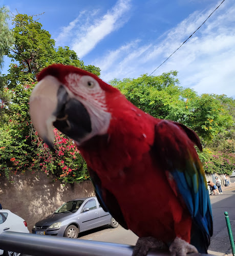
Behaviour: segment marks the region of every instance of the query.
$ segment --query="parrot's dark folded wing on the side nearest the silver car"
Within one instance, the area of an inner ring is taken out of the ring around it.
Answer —
[[[95,187],[96,197],[101,205],[101,207],[105,211],[109,211],[112,217],[125,229],[128,229],[127,224],[122,215],[121,208],[118,204],[115,196],[108,190],[102,187],[101,181],[98,175],[92,170],[92,168],[88,167],[89,174],[92,180],[92,183]]]

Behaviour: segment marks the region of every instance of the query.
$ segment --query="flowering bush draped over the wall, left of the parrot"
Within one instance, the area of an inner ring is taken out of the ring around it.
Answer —
[[[34,82],[23,83],[11,90],[9,119],[0,125],[0,174],[5,173],[11,180],[14,174],[41,170],[63,184],[90,179],[87,164],[72,140],[55,129],[55,151],[52,152],[37,136],[28,104],[33,87]]]

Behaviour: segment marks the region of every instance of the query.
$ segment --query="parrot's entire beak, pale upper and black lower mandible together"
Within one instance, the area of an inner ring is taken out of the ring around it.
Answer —
[[[53,125],[76,141],[91,132],[86,108],[53,76],[46,76],[33,89],[30,115],[38,135],[50,148],[54,142]]]

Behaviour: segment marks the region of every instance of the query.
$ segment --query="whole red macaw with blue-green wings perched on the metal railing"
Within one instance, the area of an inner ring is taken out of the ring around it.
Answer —
[[[212,216],[196,133],[142,112],[87,71],[51,65],[37,79],[35,129],[51,147],[53,125],[75,141],[101,206],[139,236],[134,254],[207,253]]]

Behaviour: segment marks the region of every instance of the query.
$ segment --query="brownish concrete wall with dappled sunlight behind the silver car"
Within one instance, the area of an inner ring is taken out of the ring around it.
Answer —
[[[69,200],[94,196],[91,181],[62,186],[58,181],[38,172],[37,176],[26,172],[13,177],[12,183],[0,176],[0,203],[22,217],[31,231],[34,224],[51,214],[62,203]]]

